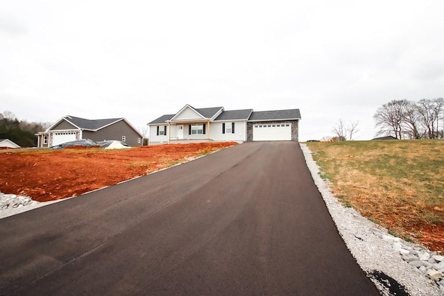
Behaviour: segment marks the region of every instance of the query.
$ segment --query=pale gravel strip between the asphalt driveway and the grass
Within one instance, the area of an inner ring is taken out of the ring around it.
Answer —
[[[398,281],[406,288],[409,295],[444,295],[430,279],[427,279],[418,269],[405,262],[400,254],[393,250],[391,243],[387,243],[374,233],[375,231],[387,233],[386,229],[364,218],[355,209],[343,207],[334,198],[328,186],[328,181],[320,177],[319,167],[311,157],[311,151],[307,145],[300,143],[300,148],[302,148],[305,162],[314,183],[318,187],[345,245],[347,245],[348,250],[355,257],[361,269],[375,283],[381,294],[393,295],[375,277],[370,276],[375,271],[384,272]],[[404,241],[402,243],[409,244]]]

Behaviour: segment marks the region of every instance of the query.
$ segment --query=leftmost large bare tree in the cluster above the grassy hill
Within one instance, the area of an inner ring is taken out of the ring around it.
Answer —
[[[377,108],[373,119],[379,127],[378,134],[394,134],[395,138],[402,139],[402,118],[409,105],[407,100],[393,100]]]

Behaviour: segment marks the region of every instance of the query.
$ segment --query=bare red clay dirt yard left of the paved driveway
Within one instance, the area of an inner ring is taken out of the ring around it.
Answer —
[[[26,195],[39,202],[60,200],[234,145],[234,142],[211,142],[122,150],[83,147],[7,150],[0,153],[0,191]]]

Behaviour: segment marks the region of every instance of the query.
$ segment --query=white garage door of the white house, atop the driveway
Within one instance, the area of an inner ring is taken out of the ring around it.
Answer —
[[[291,123],[255,124],[253,141],[291,141]]]

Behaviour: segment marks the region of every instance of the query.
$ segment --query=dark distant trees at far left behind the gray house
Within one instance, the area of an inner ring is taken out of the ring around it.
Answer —
[[[49,125],[50,123],[19,121],[14,113],[5,111],[0,113],[0,139],[10,139],[22,147],[35,147],[35,134],[46,130]]]

